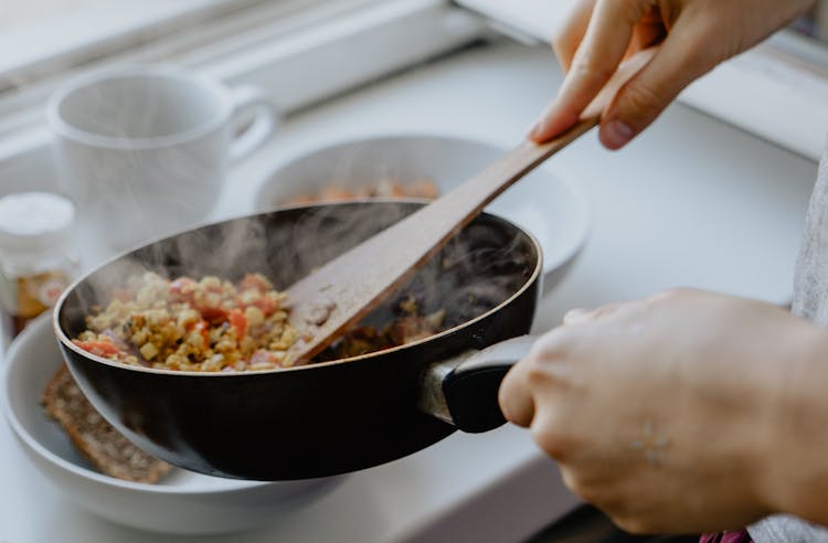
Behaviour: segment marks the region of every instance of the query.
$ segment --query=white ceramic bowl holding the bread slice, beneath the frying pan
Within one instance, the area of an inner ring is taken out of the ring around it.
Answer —
[[[330,491],[342,478],[288,482],[221,479],[174,469],[158,485],[94,471],[40,405],[63,363],[50,316],[33,322],[4,356],[3,409],[34,467],[64,494],[113,522],[162,533],[204,535],[247,530]]]

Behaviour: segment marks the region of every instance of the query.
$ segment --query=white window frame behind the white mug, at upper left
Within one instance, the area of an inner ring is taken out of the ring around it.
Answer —
[[[258,85],[285,116],[492,35],[484,18],[448,0],[256,1],[192,30],[93,55],[0,95],[0,189],[61,190],[43,109],[81,72],[174,63],[230,85]]]

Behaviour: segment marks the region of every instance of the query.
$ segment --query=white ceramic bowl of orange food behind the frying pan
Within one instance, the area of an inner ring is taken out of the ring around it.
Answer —
[[[336,184],[354,190],[381,180],[432,180],[440,194],[508,151],[485,141],[436,136],[390,135],[326,145],[278,166],[261,184],[257,211]],[[591,210],[567,175],[542,167],[518,181],[486,211],[531,232],[543,249],[543,289],[560,283],[591,228]]]

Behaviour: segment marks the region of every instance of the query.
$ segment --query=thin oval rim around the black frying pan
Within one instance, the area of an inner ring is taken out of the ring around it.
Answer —
[[[163,239],[176,237],[180,234],[183,234],[185,232],[191,232],[209,226],[215,226],[223,223],[227,223],[231,221],[237,221],[243,219],[252,219],[259,215],[266,215],[270,213],[276,213],[280,211],[289,211],[289,210],[296,210],[296,209],[302,209],[302,207],[320,207],[320,206],[339,206],[339,205],[350,205],[350,204],[364,204],[364,203],[415,203],[415,204],[424,204],[427,203],[428,200],[424,199],[416,199],[416,198],[405,198],[405,199],[392,199],[392,198],[364,198],[364,199],[355,199],[355,200],[349,200],[347,202],[325,202],[325,203],[315,203],[315,204],[291,204],[291,205],[277,205],[266,211],[259,211],[251,214],[245,215],[238,215],[231,219],[223,219],[220,221],[213,221],[213,222],[206,222],[201,223],[188,228],[183,228],[179,232],[164,235],[162,237],[151,239],[147,243],[141,244],[140,246],[134,247],[131,249],[128,249],[126,252],[119,253],[112,258],[105,260],[104,263],[95,266],[92,270],[88,273],[82,275],[77,279],[75,279],[61,295],[57,302],[54,306],[54,310],[52,311],[52,328],[54,331],[55,337],[57,338],[59,342],[61,343],[61,347],[64,349],[68,349],[71,351],[74,351],[76,354],[84,359],[88,359],[92,361],[95,361],[97,363],[102,363],[105,365],[109,365],[112,368],[118,369],[118,370],[126,370],[126,371],[132,371],[132,372],[139,372],[139,373],[149,373],[149,374],[157,374],[157,375],[179,375],[179,376],[187,376],[187,377],[254,377],[254,376],[261,376],[261,375],[273,375],[273,374],[280,374],[285,372],[297,372],[297,371],[307,371],[310,369],[321,369],[321,368],[331,368],[344,363],[351,363],[351,362],[360,362],[364,360],[371,360],[374,358],[378,358],[380,355],[389,355],[391,353],[399,352],[404,349],[413,349],[417,345],[421,345],[426,342],[436,341],[439,338],[444,338],[446,336],[456,333],[459,330],[463,330],[464,328],[470,327],[476,322],[479,322],[480,320],[484,320],[488,318],[489,316],[496,313],[497,311],[501,310],[509,304],[511,304],[516,298],[520,297],[527,289],[529,289],[532,285],[540,283],[542,280],[541,273],[543,270],[543,249],[540,246],[540,243],[538,238],[529,232],[527,228],[523,228],[522,226],[513,223],[512,221],[493,214],[493,213],[487,213],[481,212],[475,220],[479,217],[487,217],[488,220],[495,220],[500,221],[501,223],[505,223],[509,225],[514,232],[522,233],[529,242],[531,243],[531,246],[534,248],[534,253],[538,255],[538,258],[535,260],[534,267],[532,269],[532,273],[530,276],[523,281],[523,284],[518,288],[514,292],[512,292],[509,297],[507,297],[505,300],[502,300],[497,306],[492,307],[491,309],[484,311],[482,313],[478,315],[474,319],[467,320],[463,322],[459,326],[449,328],[447,330],[443,330],[440,332],[437,332],[435,334],[428,336],[426,338],[422,338],[415,341],[412,341],[410,343],[405,343],[403,345],[396,345],[389,349],[383,349],[380,351],[373,351],[364,354],[359,354],[357,356],[349,356],[346,359],[337,359],[337,360],[330,360],[326,362],[317,362],[317,363],[310,363],[310,364],[302,364],[302,365],[295,365],[290,368],[279,368],[275,370],[261,370],[261,371],[227,371],[227,372],[194,372],[194,371],[182,371],[182,370],[163,370],[158,368],[147,368],[141,365],[129,365],[125,364],[123,362],[117,362],[114,360],[106,359],[104,356],[99,356],[97,354],[93,354],[88,351],[85,351],[77,347],[75,343],[72,342],[72,340],[67,337],[67,334],[64,332],[63,328],[60,323],[60,315],[62,312],[62,309],[65,305],[66,299],[68,296],[75,291],[75,289],[84,283],[86,279],[88,279],[92,275],[99,272],[100,269],[105,268],[106,266],[128,256],[129,254],[134,253],[135,251],[138,251],[142,247],[147,247],[149,245],[159,243]],[[542,285],[539,285],[539,291],[541,291]]]

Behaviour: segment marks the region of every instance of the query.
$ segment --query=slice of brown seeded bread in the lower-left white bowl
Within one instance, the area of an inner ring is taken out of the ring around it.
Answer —
[[[102,473],[134,482],[157,482],[172,466],[145,453],[124,437],[92,406],[64,365],[43,392],[49,416]]]

